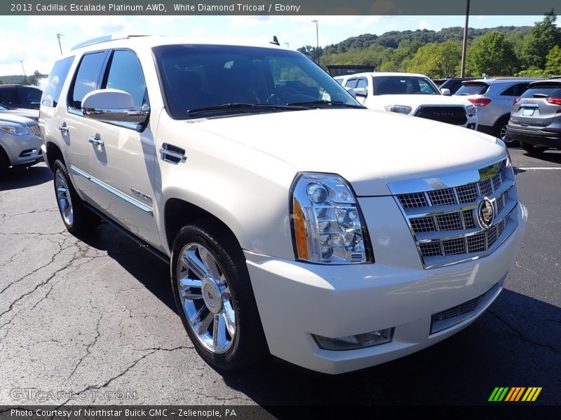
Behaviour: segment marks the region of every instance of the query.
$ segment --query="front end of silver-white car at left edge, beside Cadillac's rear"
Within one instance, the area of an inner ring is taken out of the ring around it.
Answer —
[[[9,167],[31,166],[43,160],[39,124],[0,112],[0,173]]]

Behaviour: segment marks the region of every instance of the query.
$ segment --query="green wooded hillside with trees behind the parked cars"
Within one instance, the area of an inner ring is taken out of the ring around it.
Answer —
[[[561,74],[561,28],[556,20],[552,11],[533,27],[469,28],[466,76]],[[363,34],[320,48],[320,64],[363,64],[432,78],[459,76],[463,38],[462,27]],[[312,59],[318,55],[311,45],[299,51]]]

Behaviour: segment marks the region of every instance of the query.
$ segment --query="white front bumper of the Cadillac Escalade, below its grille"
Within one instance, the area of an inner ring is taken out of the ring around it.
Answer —
[[[269,350],[295,365],[339,374],[431,346],[475,321],[499,295],[526,223],[527,210],[518,204],[518,228],[496,251],[438,269],[422,269],[419,261],[399,267],[383,261],[313,265],[245,251]],[[481,295],[485,296],[471,316],[431,334],[433,314]],[[391,342],[363,349],[329,351],[313,339],[385,328],[395,328]]]

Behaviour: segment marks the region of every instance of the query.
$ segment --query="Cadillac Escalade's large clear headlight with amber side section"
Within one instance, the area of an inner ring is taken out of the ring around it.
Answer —
[[[342,177],[304,172],[291,191],[297,259],[320,264],[374,262],[358,202]]]

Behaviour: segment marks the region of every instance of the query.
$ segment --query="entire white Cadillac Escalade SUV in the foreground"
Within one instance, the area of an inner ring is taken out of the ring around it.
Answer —
[[[127,37],[56,62],[43,153],[72,233],[170,261],[196,350],[337,374],[439,342],[499,295],[527,221],[497,139],[364,109],[299,52]]]

